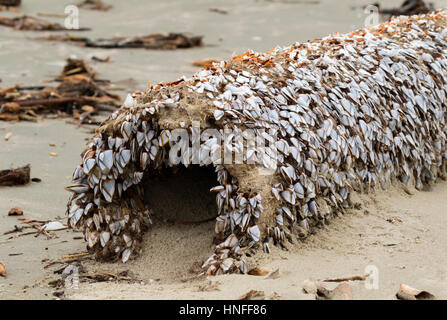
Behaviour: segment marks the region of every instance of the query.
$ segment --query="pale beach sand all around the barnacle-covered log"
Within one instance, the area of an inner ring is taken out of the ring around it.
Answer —
[[[64,2],[23,1],[22,11],[63,12]],[[101,78],[127,81],[129,90],[144,89],[147,80],[169,81],[197,68],[189,62],[204,58],[226,58],[247,48],[268,50],[277,44],[305,41],[331,32],[346,32],[361,27],[365,19],[361,7],[368,1],[322,0],[319,4],[287,4],[269,1],[111,1],[109,12],[81,11],[81,26],[92,27],[85,35],[96,38],[110,35],[189,31],[204,34],[203,48],[175,51],[82,49],[63,43],[43,43],[25,38],[41,34],[0,28],[1,86],[23,82],[39,84],[58,74],[70,54],[89,59],[110,56],[110,63],[97,63]],[[397,6],[401,1],[381,1]],[[443,1],[435,1],[440,7]],[[68,3],[68,2],[67,2]],[[227,15],[209,12],[223,8]],[[352,9],[355,7],[355,9]],[[2,15],[12,15],[2,13]],[[62,22],[60,19],[52,19]],[[138,63],[136,63],[138,62]],[[9,141],[3,136],[12,132]],[[0,189],[0,261],[8,278],[0,278],[0,299],[51,299],[48,286],[55,268],[44,269],[46,259],[81,252],[82,240],[71,230],[58,231],[55,239],[33,235],[3,235],[18,223],[7,212],[22,207],[25,217],[55,219],[63,217],[68,194],[63,187],[80,158],[90,134],[63,120],[17,124],[0,122],[0,168],[31,164],[32,177],[42,179],[24,187]],[[55,143],[50,147],[49,143]],[[57,152],[57,157],[49,156]],[[360,210],[352,210],[319,230],[304,242],[275,248],[270,255],[259,253],[251,266],[279,268],[278,279],[248,275],[225,275],[191,280],[197,265],[212,253],[213,223],[173,224],[156,220],[144,236],[142,255],[127,264],[84,263],[89,271],[131,270],[145,284],[81,283],[68,290],[69,299],[233,299],[250,289],[263,290],[266,297],[313,299],[303,294],[307,278],[361,274],[373,265],[379,270],[379,289],[367,290],[363,282],[352,282],[355,298],[393,299],[400,283],[425,289],[438,298],[447,298],[447,182],[439,182],[430,192],[408,195],[392,187],[387,191],[361,196]],[[190,201],[189,207],[194,203]],[[365,210],[369,212],[365,214]],[[391,222],[389,222],[389,221]],[[11,256],[10,254],[21,253]],[[151,279],[153,281],[151,281]],[[218,290],[206,291],[217,283]],[[332,285],[333,286],[333,285]],[[205,291],[203,291],[205,290]]]

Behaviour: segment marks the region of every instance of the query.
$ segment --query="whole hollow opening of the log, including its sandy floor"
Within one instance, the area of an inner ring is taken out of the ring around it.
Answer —
[[[153,224],[142,237],[133,270],[165,281],[199,272],[213,252],[218,185],[213,166],[178,165],[150,170],[141,181]]]

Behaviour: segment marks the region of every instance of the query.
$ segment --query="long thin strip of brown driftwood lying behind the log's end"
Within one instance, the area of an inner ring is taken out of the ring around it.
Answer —
[[[144,48],[173,50],[194,48],[202,46],[203,36],[190,36],[183,33],[149,34],[145,36],[133,37],[113,37],[110,39],[91,40],[85,37],[74,35],[52,35],[48,37],[36,38],[37,40],[64,41],[77,43],[83,47],[103,48],[103,49],[122,49],[122,48]]]

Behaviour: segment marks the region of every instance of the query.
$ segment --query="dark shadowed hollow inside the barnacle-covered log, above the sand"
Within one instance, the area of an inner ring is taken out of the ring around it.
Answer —
[[[212,221],[217,204],[210,189],[217,184],[213,166],[168,167],[144,179],[144,202],[155,220],[180,224]]]

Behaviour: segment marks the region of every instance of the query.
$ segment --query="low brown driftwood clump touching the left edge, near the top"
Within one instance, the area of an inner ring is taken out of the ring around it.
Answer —
[[[79,29],[66,29],[59,23],[51,23],[43,19],[31,17],[31,16],[21,16],[21,17],[0,17],[0,25],[5,27],[14,28],[15,30],[26,30],[26,31],[86,31],[90,30],[88,28]]]

